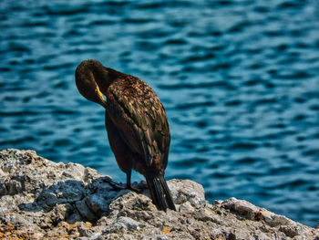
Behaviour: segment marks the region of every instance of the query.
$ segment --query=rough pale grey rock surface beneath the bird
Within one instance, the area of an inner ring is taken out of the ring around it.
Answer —
[[[148,191],[35,151],[0,151],[0,239],[317,239],[319,230],[235,198],[208,203],[189,180],[170,180],[177,212]]]

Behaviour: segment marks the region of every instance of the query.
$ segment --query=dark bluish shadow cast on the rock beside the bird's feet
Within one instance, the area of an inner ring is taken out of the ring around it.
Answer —
[[[51,212],[51,219],[57,225],[60,221],[74,224],[77,221],[95,223],[101,216],[108,215],[109,204],[129,192],[118,191],[108,176],[99,177],[92,183],[67,180],[51,185],[37,194],[33,203],[20,203],[21,211]]]

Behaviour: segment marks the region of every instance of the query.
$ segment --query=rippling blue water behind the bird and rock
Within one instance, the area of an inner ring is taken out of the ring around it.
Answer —
[[[319,2],[0,2],[0,148],[125,181],[104,111],[74,83],[95,58],[144,79],[170,120],[166,176],[319,222]],[[141,180],[135,174],[134,180]]]

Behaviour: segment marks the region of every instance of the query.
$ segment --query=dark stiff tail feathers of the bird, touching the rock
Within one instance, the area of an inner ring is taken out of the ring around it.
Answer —
[[[158,207],[159,210],[166,212],[167,208],[176,211],[173,198],[170,194],[168,184],[164,179],[164,175],[158,176],[154,174],[146,175],[146,181],[149,187],[149,193],[153,203]]]

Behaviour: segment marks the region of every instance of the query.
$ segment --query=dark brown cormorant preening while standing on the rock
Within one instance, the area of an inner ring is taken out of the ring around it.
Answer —
[[[176,211],[164,178],[170,151],[170,126],[155,91],[140,78],[104,67],[98,60],[78,64],[75,73],[79,93],[105,109],[108,141],[118,167],[144,175],[152,202],[159,210]],[[104,96],[106,99],[104,98]]]

